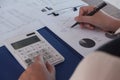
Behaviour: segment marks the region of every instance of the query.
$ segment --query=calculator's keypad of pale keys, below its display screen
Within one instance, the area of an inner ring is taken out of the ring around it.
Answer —
[[[37,42],[26,46],[25,48],[17,50],[17,53],[25,62],[26,66],[34,62],[34,58],[38,55],[42,55],[44,61],[48,61],[53,65],[64,61],[64,58],[60,55],[60,53],[45,42]]]

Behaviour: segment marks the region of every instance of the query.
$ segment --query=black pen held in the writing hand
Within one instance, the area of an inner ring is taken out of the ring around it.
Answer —
[[[97,7],[94,8],[93,11],[91,11],[90,13],[87,14],[87,16],[92,16],[95,13],[97,13],[100,9],[102,9],[103,7],[105,7],[107,4],[105,2],[102,2],[101,4],[99,4]],[[71,26],[71,28],[75,27],[76,25],[80,24],[80,22],[76,22],[75,24],[73,24]]]

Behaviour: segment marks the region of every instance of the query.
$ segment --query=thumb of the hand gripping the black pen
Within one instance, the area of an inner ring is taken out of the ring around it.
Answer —
[[[91,16],[75,17],[75,21],[80,22],[80,23],[89,23],[89,24],[94,23],[94,19]]]

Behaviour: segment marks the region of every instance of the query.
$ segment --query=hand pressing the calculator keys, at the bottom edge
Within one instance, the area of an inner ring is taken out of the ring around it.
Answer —
[[[19,80],[55,80],[55,68],[48,62],[44,63],[43,58],[38,56]]]

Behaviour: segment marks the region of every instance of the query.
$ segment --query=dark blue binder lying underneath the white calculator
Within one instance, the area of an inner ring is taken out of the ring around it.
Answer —
[[[55,66],[56,80],[68,80],[78,63],[83,59],[79,53],[61,40],[47,27],[38,32],[65,58],[65,61]],[[16,61],[5,46],[0,47],[0,80],[18,80],[23,67]]]

